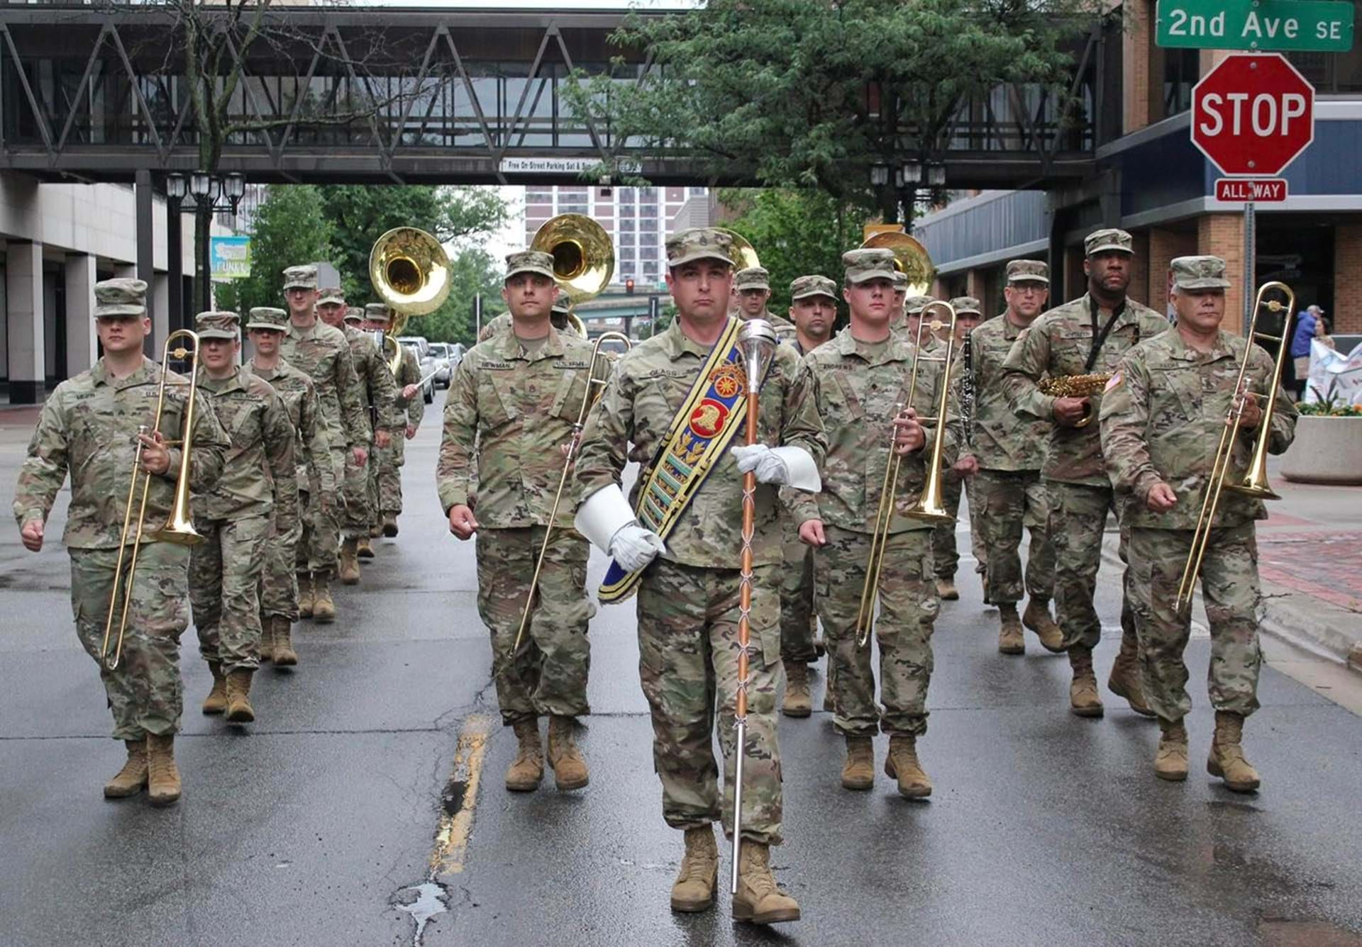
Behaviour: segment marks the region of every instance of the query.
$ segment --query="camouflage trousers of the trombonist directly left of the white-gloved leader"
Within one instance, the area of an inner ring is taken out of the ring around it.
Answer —
[[[543,527],[478,531],[478,614],[492,633],[492,675],[507,727],[543,714],[591,713],[587,625],[595,605],[586,595],[587,542],[572,529],[553,531],[539,573],[538,604],[520,650],[511,650],[543,532]]]

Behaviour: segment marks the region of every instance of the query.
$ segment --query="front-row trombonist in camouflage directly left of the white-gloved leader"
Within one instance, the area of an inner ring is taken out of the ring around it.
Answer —
[[[561,791],[587,785],[573,740],[590,713],[586,540],[572,529],[571,503],[549,513],[563,472],[560,448],[572,438],[591,371],[591,346],[549,324],[558,293],[553,257],[524,250],[507,257],[503,298],[509,332],[474,346],[454,373],[444,405],[436,486],[449,531],[478,535],[478,614],[492,633],[492,667],[501,722],[519,752],[507,770],[512,792],[543,777],[539,717],[549,717],[549,763]],[[526,641],[513,650],[530,577],[553,527]]]

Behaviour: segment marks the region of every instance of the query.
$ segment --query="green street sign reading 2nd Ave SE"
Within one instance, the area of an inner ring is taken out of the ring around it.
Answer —
[[[1159,0],[1159,46],[1184,49],[1352,49],[1350,0]]]

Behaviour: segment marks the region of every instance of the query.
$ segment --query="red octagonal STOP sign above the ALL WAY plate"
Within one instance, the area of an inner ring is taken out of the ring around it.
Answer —
[[[1280,53],[1235,53],[1192,90],[1192,144],[1224,174],[1280,174],[1314,140],[1314,86]]]

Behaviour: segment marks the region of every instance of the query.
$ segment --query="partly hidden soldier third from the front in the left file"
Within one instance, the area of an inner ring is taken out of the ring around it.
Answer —
[[[298,620],[298,584],[293,563],[302,536],[301,512],[309,497],[330,503],[335,495],[335,471],[331,446],[321,426],[317,391],[305,373],[279,358],[279,343],[289,328],[289,313],[256,306],[247,322],[252,358],[241,366],[242,376],[270,382],[283,401],[293,425],[294,482],[298,487],[298,516],[290,529],[278,521],[266,540],[266,562],[260,576],[260,660],[276,668],[294,667],[298,653],[293,649],[291,630]]]

